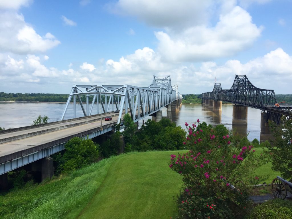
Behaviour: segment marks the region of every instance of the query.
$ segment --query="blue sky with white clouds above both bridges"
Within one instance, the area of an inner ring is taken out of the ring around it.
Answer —
[[[0,92],[73,84],[147,87],[171,75],[202,93],[235,75],[288,94],[292,0],[0,1]]]

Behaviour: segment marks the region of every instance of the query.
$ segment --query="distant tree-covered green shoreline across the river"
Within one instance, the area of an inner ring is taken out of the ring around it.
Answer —
[[[5,93],[0,92],[0,101],[15,101],[15,102],[67,102],[69,94],[21,94],[21,93]],[[201,104],[199,98],[201,94],[183,94],[183,104]],[[92,101],[93,96],[89,96],[89,101]],[[286,104],[292,104],[292,94],[276,94],[278,102],[285,101]],[[82,102],[86,101],[86,96],[81,96]],[[73,102],[73,99],[71,100]]]

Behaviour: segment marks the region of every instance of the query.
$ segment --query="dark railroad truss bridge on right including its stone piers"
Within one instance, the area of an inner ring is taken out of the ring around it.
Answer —
[[[202,104],[214,112],[222,111],[222,101],[233,105],[232,124],[247,125],[247,107],[262,110],[260,142],[271,138],[268,120],[279,124],[283,115],[291,116],[291,107],[277,103],[274,90],[255,87],[246,75],[236,75],[230,89],[222,89],[220,83],[215,83],[212,92],[202,94]]]

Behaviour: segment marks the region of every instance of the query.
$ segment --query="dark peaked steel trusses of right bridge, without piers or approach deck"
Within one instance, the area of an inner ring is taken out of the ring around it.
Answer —
[[[262,110],[277,103],[274,90],[255,87],[246,75],[236,75],[232,87],[227,90],[222,89],[221,84],[215,84],[213,91],[203,93],[202,98],[227,101]]]

